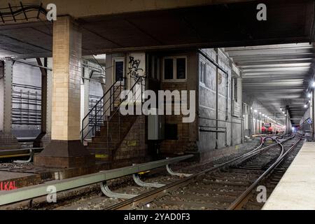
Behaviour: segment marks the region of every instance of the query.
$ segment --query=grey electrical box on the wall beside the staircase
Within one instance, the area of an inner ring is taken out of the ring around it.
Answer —
[[[148,116],[148,140],[165,139],[165,117],[158,115],[158,109],[150,109],[156,115]]]

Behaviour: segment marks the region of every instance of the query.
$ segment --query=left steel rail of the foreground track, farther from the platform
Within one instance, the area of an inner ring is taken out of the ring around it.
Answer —
[[[290,139],[292,139],[293,137],[290,137],[284,141],[288,141]],[[282,142],[284,142],[282,141]],[[141,194],[137,197],[132,197],[129,200],[125,200],[124,202],[120,202],[118,204],[114,204],[111,207],[107,207],[106,210],[124,210],[124,209],[133,209],[135,206],[137,206],[138,204],[147,204],[149,202],[152,202],[153,200],[155,200],[156,197],[161,196],[161,195],[165,195],[167,192],[171,191],[171,190],[176,190],[178,188],[181,188],[183,186],[188,185],[191,181],[193,181],[194,179],[197,179],[198,177],[202,176],[203,174],[209,173],[209,172],[214,172],[218,169],[221,169],[222,167],[226,167],[227,165],[232,165],[235,162],[239,161],[239,160],[246,160],[248,158],[253,157],[254,155],[257,155],[258,153],[265,151],[269,148],[272,148],[274,146],[277,146],[278,143],[276,144],[272,144],[270,146],[261,148],[262,145],[264,144],[264,138],[262,139],[262,142],[260,144],[260,146],[258,146],[257,148],[254,148],[253,151],[245,153],[244,155],[241,155],[233,160],[229,160],[228,162],[224,162],[221,165],[218,165],[216,167],[211,167],[209,169],[205,169],[202,172],[199,172],[197,174],[193,174],[192,176],[188,176],[185,179],[181,179],[179,181],[175,181],[174,183],[169,183],[166,186],[163,186],[161,188],[156,188],[154,190],[149,191],[148,193],[144,193]]]

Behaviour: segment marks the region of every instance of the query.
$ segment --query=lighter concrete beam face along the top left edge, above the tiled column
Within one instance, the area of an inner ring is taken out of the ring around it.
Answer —
[[[166,10],[174,8],[189,8],[194,6],[209,6],[226,3],[239,3],[254,0],[1,0],[0,10],[3,19],[10,20],[6,15],[10,14],[8,3],[12,6],[13,11],[20,8],[20,2],[25,10],[27,6],[40,6],[46,8],[49,3],[54,3],[57,8],[57,15],[71,15],[73,18],[83,18],[94,15],[115,15],[121,13],[139,13],[151,10]],[[18,6],[18,7],[17,7]],[[29,9],[28,9],[29,10]],[[30,13],[31,14],[31,13]],[[27,15],[28,18],[37,17],[37,11],[33,16]],[[25,15],[22,11],[16,15],[15,20],[20,22]],[[0,20],[1,22],[1,20]],[[14,20],[10,20],[14,22]]]

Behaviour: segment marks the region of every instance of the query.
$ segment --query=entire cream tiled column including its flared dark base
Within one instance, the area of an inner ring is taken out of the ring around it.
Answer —
[[[94,157],[80,142],[82,34],[71,17],[57,18],[52,42],[52,141],[34,162],[45,167],[89,166]]]

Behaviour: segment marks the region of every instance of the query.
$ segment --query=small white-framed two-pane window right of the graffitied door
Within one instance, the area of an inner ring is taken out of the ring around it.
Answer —
[[[186,80],[187,67],[186,57],[166,57],[164,59],[164,80],[179,81]]]

